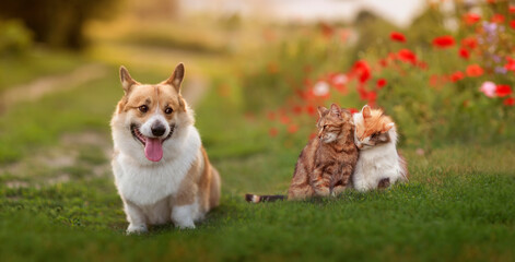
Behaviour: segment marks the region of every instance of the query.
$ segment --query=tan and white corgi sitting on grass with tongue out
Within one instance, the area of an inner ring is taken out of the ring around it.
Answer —
[[[151,85],[120,68],[125,95],[110,120],[112,165],[128,234],[169,222],[195,228],[219,205],[220,175],[194,127],[194,111],[180,95],[184,72],[179,63],[171,78]]]

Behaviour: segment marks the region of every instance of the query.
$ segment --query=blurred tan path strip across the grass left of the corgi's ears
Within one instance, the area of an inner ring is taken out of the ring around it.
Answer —
[[[106,73],[105,66],[87,63],[70,73],[42,76],[27,84],[8,88],[1,94],[1,105],[9,108],[20,102],[36,100],[51,93],[75,88],[93,80],[101,79]]]

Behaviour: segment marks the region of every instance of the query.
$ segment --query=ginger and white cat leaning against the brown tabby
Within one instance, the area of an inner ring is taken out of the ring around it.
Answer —
[[[360,148],[352,176],[354,189],[367,191],[408,181],[407,164],[397,152],[397,132],[391,118],[367,105],[353,118],[354,143]]]

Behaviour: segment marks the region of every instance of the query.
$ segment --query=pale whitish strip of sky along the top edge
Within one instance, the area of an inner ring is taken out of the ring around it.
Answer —
[[[426,0],[179,0],[184,12],[239,13],[279,21],[352,21],[362,9],[398,26],[409,23],[424,10]]]

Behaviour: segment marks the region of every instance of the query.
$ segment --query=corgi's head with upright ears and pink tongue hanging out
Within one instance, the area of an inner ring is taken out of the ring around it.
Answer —
[[[112,121],[115,146],[138,158],[144,154],[147,159],[160,162],[167,145],[176,143],[174,140],[194,122],[191,109],[180,95],[183,79],[183,63],[169,79],[155,85],[137,82],[121,67],[125,95]]]

